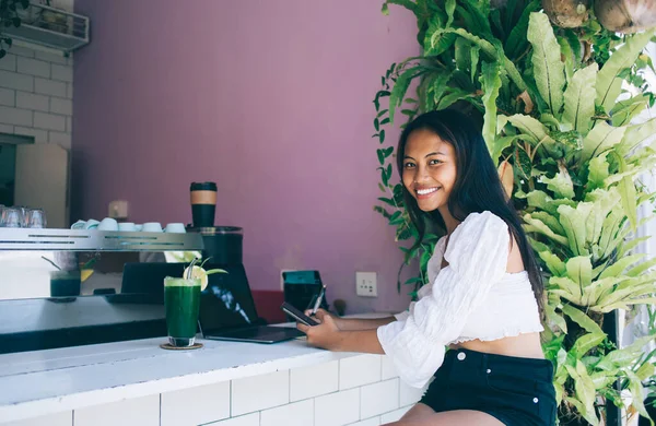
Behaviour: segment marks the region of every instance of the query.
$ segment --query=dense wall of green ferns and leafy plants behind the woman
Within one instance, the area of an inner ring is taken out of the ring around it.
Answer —
[[[637,208],[655,199],[637,178],[656,164],[655,146],[644,145],[656,119],[632,123],[654,104],[652,93],[635,90],[653,68],[642,50],[654,32],[620,37],[595,20],[554,28],[538,1],[493,9],[482,0],[390,0],[383,11],[391,3],[418,16],[423,55],[393,64],[374,99],[388,193],[375,209],[398,240],[417,239],[391,179],[394,147],[384,144],[396,109],[408,119],[456,103],[479,111],[492,157],[512,170],[512,199],[548,283],[543,348],[555,366],[561,422],[599,424],[599,402],[623,404],[618,381],[633,397],[629,411],[646,416],[641,383],[654,376],[654,357],[641,351],[655,335],[617,348],[600,326],[606,312],[656,303],[656,260],[632,253],[642,240],[634,238]],[[401,248],[406,264],[420,260],[419,276],[408,281],[414,289],[425,283],[435,240]]]

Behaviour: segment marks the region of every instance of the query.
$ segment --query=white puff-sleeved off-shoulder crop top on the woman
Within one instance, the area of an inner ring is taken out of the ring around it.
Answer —
[[[429,284],[397,321],[377,329],[401,378],[422,388],[440,368],[446,346],[543,331],[528,273],[507,273],[511,234],[491,212],[471,213],[442,238],[429,261]],[[448,265],[441,268],[442,259]]]

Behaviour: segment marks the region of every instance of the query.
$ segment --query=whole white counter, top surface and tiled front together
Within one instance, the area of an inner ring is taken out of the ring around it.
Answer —
[[[368,426],[398,419],[422,394],[385,356],[304,340],[201,340],[195,351],[164,341],[0,355],[0,424]]]

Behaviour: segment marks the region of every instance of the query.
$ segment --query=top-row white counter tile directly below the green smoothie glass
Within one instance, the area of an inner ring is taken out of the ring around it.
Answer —
[[[230,381],[164,392],[160,413],[160,426],[196,426],[227,418]]]

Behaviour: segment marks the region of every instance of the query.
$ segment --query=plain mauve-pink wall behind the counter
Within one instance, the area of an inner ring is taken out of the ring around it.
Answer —
[[[75,1],[92,42],[74,62],[72,218],[125,199],[131,221],[188,223],[189,184],[214,180],[253,288],[318,269],[350,312],[403,309],[400,251],[372,210],[372,98],[419,48],[412,14],[382,3]],[[378,298],[355,296],[355,271],[378,273]]]

